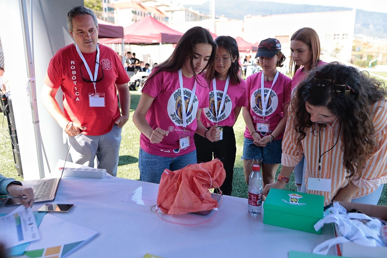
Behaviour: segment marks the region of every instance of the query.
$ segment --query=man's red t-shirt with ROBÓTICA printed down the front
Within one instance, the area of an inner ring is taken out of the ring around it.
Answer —
[[[89,93],[95,93],[86,67],[82,64],[75,44],[58,50],[51,58],[46,77],[43,82],[51,88],[61,88],[63,92],[63,108],[69,121],[86,126],[84,135],[103,135],[111,131],[114,122],[120,117],[115,84],[125,84],[129,77],[122,62],[111,48],[99,44],[99,68],[96,82],[97,93],[104,93],[104,107],[90,107]],[[94,75],[96,53],[82,53]],[[103,73],[102,73],[103,69]],[[82,76],[81,73],[82,72]]]

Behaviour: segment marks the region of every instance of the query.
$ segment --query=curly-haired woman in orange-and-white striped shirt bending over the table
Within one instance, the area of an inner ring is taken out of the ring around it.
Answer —
[[[383,82],[337,62],[310,71],[295,90],[284,134],[283,189],[305,155],[307,193],[377,204],[387,183],[387,91]]]

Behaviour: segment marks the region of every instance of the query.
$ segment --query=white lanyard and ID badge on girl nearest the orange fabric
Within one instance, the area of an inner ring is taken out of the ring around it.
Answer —
[[[190,131],[185,130],[187,128],[187,113],[185,109],[182,69],[179,70],[179,84],[180,84],[180,94],[182,97],[182,119],[183,119],[183,133],[179,135],[179,149],[182,150],[190,146]],[[193,104],[195,92],[196,92],[196,80],[194,83],[194,88],[191,91],[191,97],[188,103],[187,110],[190,110]]]

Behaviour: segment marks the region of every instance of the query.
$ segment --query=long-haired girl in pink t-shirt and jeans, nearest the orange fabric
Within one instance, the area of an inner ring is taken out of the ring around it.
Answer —
[[[220,138],[217,125],[200,122],[214,76],[216,44],[202,27],[189,29],[172,55],[152,70],[142,89],[133,122],[140,130],[140,180],[159,183],[164,169],[196,163],[194,133]],[[200,73],[207,69],[205,78]]]

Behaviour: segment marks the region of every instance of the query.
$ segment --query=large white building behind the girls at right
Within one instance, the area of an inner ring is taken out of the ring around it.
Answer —
[[[311,27],[319,35],[322,59],[324,59],[324,55],[327,55],[349,62],[352,55],[355,15],[355,9],[298,14],[249,15],[244,18],[243,38],[248,42],[277,38],[281,42],[284,55],[290,56],[290,38],[293,33],[303,27]],[[262,24],[262,26],[257,24]]]

